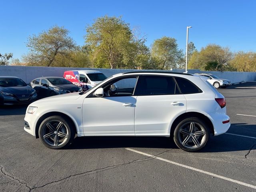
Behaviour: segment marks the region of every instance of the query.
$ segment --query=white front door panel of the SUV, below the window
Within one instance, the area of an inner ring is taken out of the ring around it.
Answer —
[[[83,103],[85,136],[134,136],[136,97],[85,98]],[[131,106],[124,106],[129,103]]]

